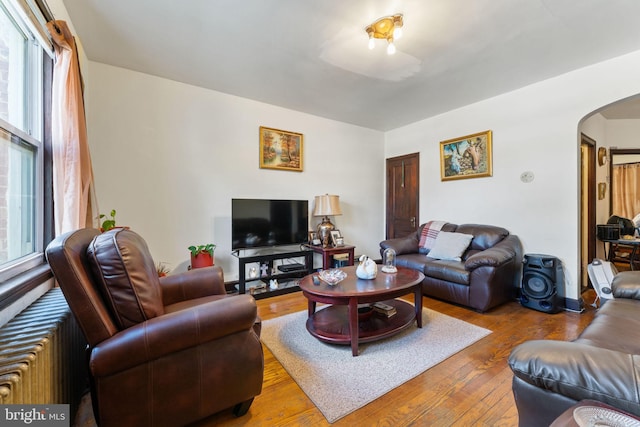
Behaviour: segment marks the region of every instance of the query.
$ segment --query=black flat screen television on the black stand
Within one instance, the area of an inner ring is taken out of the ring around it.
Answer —
[[[308,200],[231,199],[234,250],[304,243],[308,231]]]

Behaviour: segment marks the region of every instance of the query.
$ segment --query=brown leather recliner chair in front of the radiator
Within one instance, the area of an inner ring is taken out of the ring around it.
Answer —
[[[100,426],[184,426],[249,409],[264,359],[255,300],[228,297],[219,267],[158,278],[133,231],[81,229],[46,250],[88,342]]]

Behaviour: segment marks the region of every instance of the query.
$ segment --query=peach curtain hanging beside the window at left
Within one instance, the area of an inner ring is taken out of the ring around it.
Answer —
[[[82,76],[75,40],[65,21],[51,21],[55,66],[52,93],[53,200],[56,235],[97,225],[87,142]]]

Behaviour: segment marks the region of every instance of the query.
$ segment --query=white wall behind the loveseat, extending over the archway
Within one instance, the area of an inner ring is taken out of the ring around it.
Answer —
[[[598,108],[640,93],[640,52],[582,68],[395,129],[385,156],[420,152],[420,221],[503,226],[525,253],[559,257],[566,296],[579,286],[580,121]],[[462,82],[473,84],[473,82]],[[493,131],[493,177],[440,181],[439,142]],[[519,179],[524,171],[533,182]]]

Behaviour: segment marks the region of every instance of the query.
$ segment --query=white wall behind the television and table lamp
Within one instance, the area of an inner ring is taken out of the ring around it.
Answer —
[[[90,62],[88,130],[100,211],[181,268],[192,244],[215,243],[225,279],[231,199],[338,194],[332,218],[358,254],[384,238],[384,135],[316,116]],[[265,84],[268,84],[265,82]],[[259,126],[304,134],[304,172],[259,168]],[[315,229],[319,218],[311,218]]]

